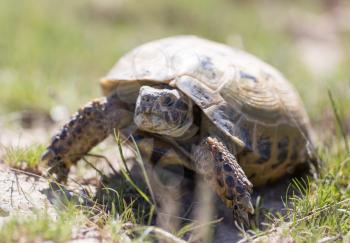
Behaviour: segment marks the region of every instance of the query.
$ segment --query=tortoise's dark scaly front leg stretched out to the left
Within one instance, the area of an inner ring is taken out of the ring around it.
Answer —
[[[104,140],[114,128],[127,126],[132,119],[133,114],[116,94],[86,104],[52,138],[42,155],[42,160],[51,167],[49,173],[56,174],[58,181],[65,181],[72,164]]]

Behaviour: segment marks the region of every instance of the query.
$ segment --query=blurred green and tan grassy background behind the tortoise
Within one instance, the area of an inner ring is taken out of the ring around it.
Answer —
[[[0,114],[70,112],[101,95],[98,80],[149,40],[195,34],[253,53],[297,87],[312,119],[350,120],[346,1],[2,0]]]

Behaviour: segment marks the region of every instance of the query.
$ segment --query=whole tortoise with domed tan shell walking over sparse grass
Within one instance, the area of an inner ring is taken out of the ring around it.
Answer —
[[[242,50],[196,36],[168,37],[127,53],[100,85],[105,97],[83,106],[42,156],[60,181],[114,129],[125,128],[152,163],[167,158],[203,175],[236,219],[247,222],[253,185],[315,161],[297,91]],[[152,145],[142,142],[147,137]]]

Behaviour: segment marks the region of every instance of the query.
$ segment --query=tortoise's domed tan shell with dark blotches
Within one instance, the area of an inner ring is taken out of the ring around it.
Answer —
[[[144,83],[168,84],[189,96],[206,115],[201,132],[223,139],[257,186],[308,159],[313,132],[298,93],[251,54],[176,36],[130,51],[101,79],[106,95],[116,91],[130,102]]]

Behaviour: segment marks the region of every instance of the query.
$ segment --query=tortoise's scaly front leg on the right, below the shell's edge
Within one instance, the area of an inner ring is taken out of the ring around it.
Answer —
[[[234,217],[249,225],[248,213],[254,213],[250,193],[252,183],[235,156],[216,138],[205,138],[194,149],[197,172],[216,191],[225,205],[233,208]]]

